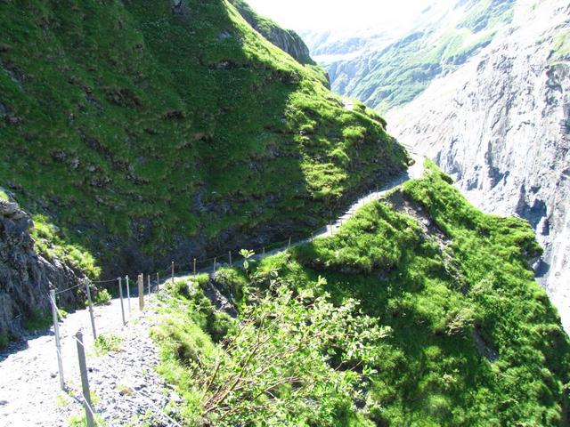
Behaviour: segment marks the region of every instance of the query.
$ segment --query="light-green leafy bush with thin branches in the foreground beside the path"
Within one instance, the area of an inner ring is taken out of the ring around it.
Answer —
[[[164,318],[155,337],[170,342],[163,347],[167,359],[186,367],[192,397],[201,396],[185,402],[189,424],[208,418],[220,426],[331,425],[358,418],[357,384],[371,375],[371,347],[387,329],[359,313],[354,300],[331,304],[324,283],[294,294],[274,282],[244,307],[216,351],[195,326],[182,326],[171,313]]]

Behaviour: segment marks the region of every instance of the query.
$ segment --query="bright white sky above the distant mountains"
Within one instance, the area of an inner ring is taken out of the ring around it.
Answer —
[[[430,0],[247,0],[256,12],[296,29],[357,30],[407,23]]]

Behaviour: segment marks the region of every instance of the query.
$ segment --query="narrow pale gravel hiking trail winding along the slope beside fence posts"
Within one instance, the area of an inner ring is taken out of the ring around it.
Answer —
[[[417,179],[423,174],[423,157],[407,147],[415,164],[401,176],[388,182],[378,191],[359,198],[345,214],[330,226],[314,233],[312,238],[292,242],[302,245],[313,238],[334,234],[343,222],[354,216],[366,203],[385,197],[403,182]],[[286,250],[287,246],[274,249],[265,255]],[[256,254],[256,258],[261,258]],[[175,278],[190,278],[179,275]],[[166,282],[166,281],[164,281]],[[164,283],[163,282],[163,283]],[[133,286],[134,287],[134,286]],[[88,310],[77,310],[60,323],[61,356],[67,393],[61,391],[58,377],[53,327],[41,334],[30,334],[25,342],[12,342],[0,352],[0,427],[8,426],[67,426],[69,416],[83,415],[80,396],[80,376],[77,361],[77,342],[74,335],[83,330],[84,345],[89,370],[89,382],[95,396],[94,407],[109,426],[142,425],[144,420],[154,420],[156,425],[175,425],[161,412],[170,400],[180,399],[163,383],[153,367],[159,362],[159,353],[151,341],[149,331],[157,321],[157,299],[144,310],[138,309],[138,298],[125,298],[127,325],[122,325],[120,301],[95,307],[97,334],[115,334],[121,337],[118,352],[97,356]]]

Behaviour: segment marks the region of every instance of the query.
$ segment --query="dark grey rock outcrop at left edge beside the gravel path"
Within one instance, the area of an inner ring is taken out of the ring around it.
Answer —
[[[62,291],[83,278],[64,263],[48,261],[29,235],[33,222],[12,202],[0,200],[0,336],[20,337],[32,314],[50,313],[50,289]],[[59,295],[61,307],[77,306],[77,292]]]

